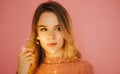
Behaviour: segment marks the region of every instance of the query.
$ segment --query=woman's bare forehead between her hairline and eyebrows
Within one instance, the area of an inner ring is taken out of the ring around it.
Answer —
[[[45,25],[45,26],[55,26],[58,25],[58,18],[55,13],[53,12],[44,12],[41,14],[38,26]]]

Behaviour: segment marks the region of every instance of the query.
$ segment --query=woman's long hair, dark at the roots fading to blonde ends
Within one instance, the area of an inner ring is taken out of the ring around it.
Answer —
[[[37,40],[37,36],[38,36],[37,25],[41,14],[44,12],[53,12],[58,18],[59,25],[61,28],[60,32],[64,38],[63,57],[68,58],[69,61],[74,61],[75,59],[81,58],[80,52],[77,50],[77,48],[74,45],[72,28],[71,28],[72,22],[68,12],[59,3],[54,1],[48,1],[40,4],[33,16],[32,31],[31,31],[30,40],[28,42],[28,47],[34,50],[35,61],[29,70],[29,74],[33,74],[37,70],[37,68],[40,67],[45,57],[44,49],[41,47],[39,40]]]

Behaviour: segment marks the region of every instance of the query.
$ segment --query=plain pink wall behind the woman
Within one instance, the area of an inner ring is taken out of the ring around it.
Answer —
[[[56,1],[70,13],[76,46],[95,74],[120,74],[120,0]],[[0,0],[0,74],[15,74],[17,55],[41,2]]]

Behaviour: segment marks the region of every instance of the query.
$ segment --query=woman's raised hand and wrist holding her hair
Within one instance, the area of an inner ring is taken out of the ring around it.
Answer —
[[[35,56],[30,48],[23,48],[18,55],[18,74],[28,74],[30,66],[34,63]]]

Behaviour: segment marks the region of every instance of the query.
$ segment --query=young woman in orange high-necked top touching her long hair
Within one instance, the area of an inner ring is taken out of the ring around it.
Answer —
[[[32,32],[18,56],[18,74],[93,74],[74,45],[71,19],[63,6],[48,1],[38,6]]]

